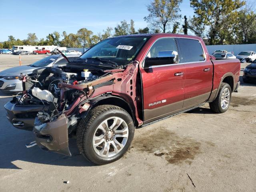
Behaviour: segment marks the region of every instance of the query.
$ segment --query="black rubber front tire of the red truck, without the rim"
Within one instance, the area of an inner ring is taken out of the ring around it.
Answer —
[[[122,150],[116,155],[105,158],[99,156],[94,151],[94,148],[92,146],[92,139],[94,137],[94,132],[96,131],[97,127],[104,120],[112,116],[122,118],[126,122],[129,134],[124,148],[122,148]],[[76,142],[78,149],[88,161],[97,165],[108,164],[120,159],[129,149],[133,137],[134,123],[130,114],[128,114],[126,110],[114,105],[101,105],[90,110],[87,116],[80,121],[76,132]]]

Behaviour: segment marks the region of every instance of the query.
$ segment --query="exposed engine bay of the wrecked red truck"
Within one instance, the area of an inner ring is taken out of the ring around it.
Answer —
[[[81,63],[71,63],[62,68],[43,67],[34,70],[30,75],[20,76],[24,91],[16,96],[16,104],[43,105],[43,110],[38,112],[38,119],[41,122],[52,121],[69,110],[78,98],[84,97],[84,100],[88,100],[94,92],[88,83],[108,76],[108,70],[116,68],[98,62],[100,68],[96,65],[85,69]],[[60,84],[66,87],[60,87]]]

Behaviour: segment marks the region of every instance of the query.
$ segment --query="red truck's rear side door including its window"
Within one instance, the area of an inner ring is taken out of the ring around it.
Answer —
[[[202,45],[197,39],[178,38],[181,62],[185,67],[185,98],[187,109],[208,100],[212,90],[213,64],[206,59]]]

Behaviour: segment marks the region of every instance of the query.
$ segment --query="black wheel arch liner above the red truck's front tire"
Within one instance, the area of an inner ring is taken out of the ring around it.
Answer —
[[[134,124],[136,124],[135,116],[134,116],[135,113],[132,110],[132,107],[122,97],[113,96],[111,94],[105,94],[105,95],[101,95],[101,96],[92,98],[90,100],[90,102],[88,102],[88,104],[90,104],[90,106],[89,106],[88,110],[81,113],[81,116],[80,116],[81,118],[86,117],[88,112],[90,110],[92,110],[93,108],[95,108],[96,106],[105,105],[105,104],[106,105],[116,105],[116,106],[119,106],[119,107],[123,108],[124,110],[126,110],[130,114],[130,116],[132,117],[132,120],[133,120]]]

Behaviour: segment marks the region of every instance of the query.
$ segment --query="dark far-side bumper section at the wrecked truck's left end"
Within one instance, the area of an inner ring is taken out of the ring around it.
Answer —
[[[6,117],[11,124],[22,130],[32,131],[36,114],[42,110],[42,105],[16,105],[14,101],[9,101],[4,105]]]

